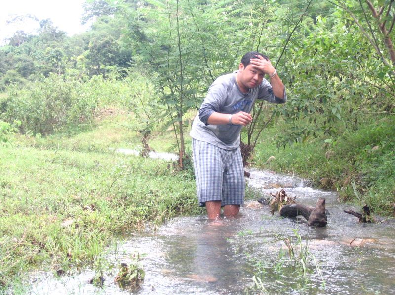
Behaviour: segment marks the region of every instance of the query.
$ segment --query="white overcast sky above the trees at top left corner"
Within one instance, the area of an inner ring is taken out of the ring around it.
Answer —
[[[1,0],[0,4],[0,45],[4,38],[11,37],[17,30],[35,33],[38,22],[7,24],[16,15],[31,14],[39,20],[50,18],[54,26],[68,35],[81,33],[89,25],[81,25],[82,4],[85,0]]]

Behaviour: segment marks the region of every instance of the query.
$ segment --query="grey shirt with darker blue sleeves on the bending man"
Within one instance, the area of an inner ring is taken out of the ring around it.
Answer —
[[[241,92],[236,82],[237,71],[218,77],[208,89],[207,95],[195,117],[190,135],[200,141],[209,142],[226,150],[236,149],[240,145],[240,131],[243,126],[234,124],[209,125],[208,117],[214,112],[236,114],[240,111],[249,113],[256,99],[271,103],[284,103],[287,99],[277,98],[273,94],[272,85],[263,79],[262,83],[250,89],[249,93]]]

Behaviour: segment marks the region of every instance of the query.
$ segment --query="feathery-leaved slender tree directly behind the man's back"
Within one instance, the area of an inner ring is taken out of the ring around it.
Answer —
[[[237,68],[241,55],[253,44],[267,45],[251,29],[253,22],[261,21],[256,11],[262,13],[266,6],[261,7],[258,0],[139,3],[119,4],[118,10],[127,20],[136,64],[151,73],[148,76],[168,108],[182,167],[183,116],[201,104],[217,76]],[[263,31],[264,23],[259,30]]]

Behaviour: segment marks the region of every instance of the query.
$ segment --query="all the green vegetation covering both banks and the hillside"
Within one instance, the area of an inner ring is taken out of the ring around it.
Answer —
[[[197,213],[190,119],[250,50],[271,58],[288,95],[256,105],[242,133],[250,161],[393,214],[393,2],[96,0],[88,32],[50,20],[16,32],[0,47],[0,286],[39,263],[95,260],[125,228]],[[109,151],[137,146],[180,161]]]

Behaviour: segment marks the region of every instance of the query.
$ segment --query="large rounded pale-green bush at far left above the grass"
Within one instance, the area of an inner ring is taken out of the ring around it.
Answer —
[[[3,102],[2,119],[21,121],[20,131],[48,134],[90,124],[98,105],[86,84],[51,74],[43,82],[20,89],[10,86]]]

